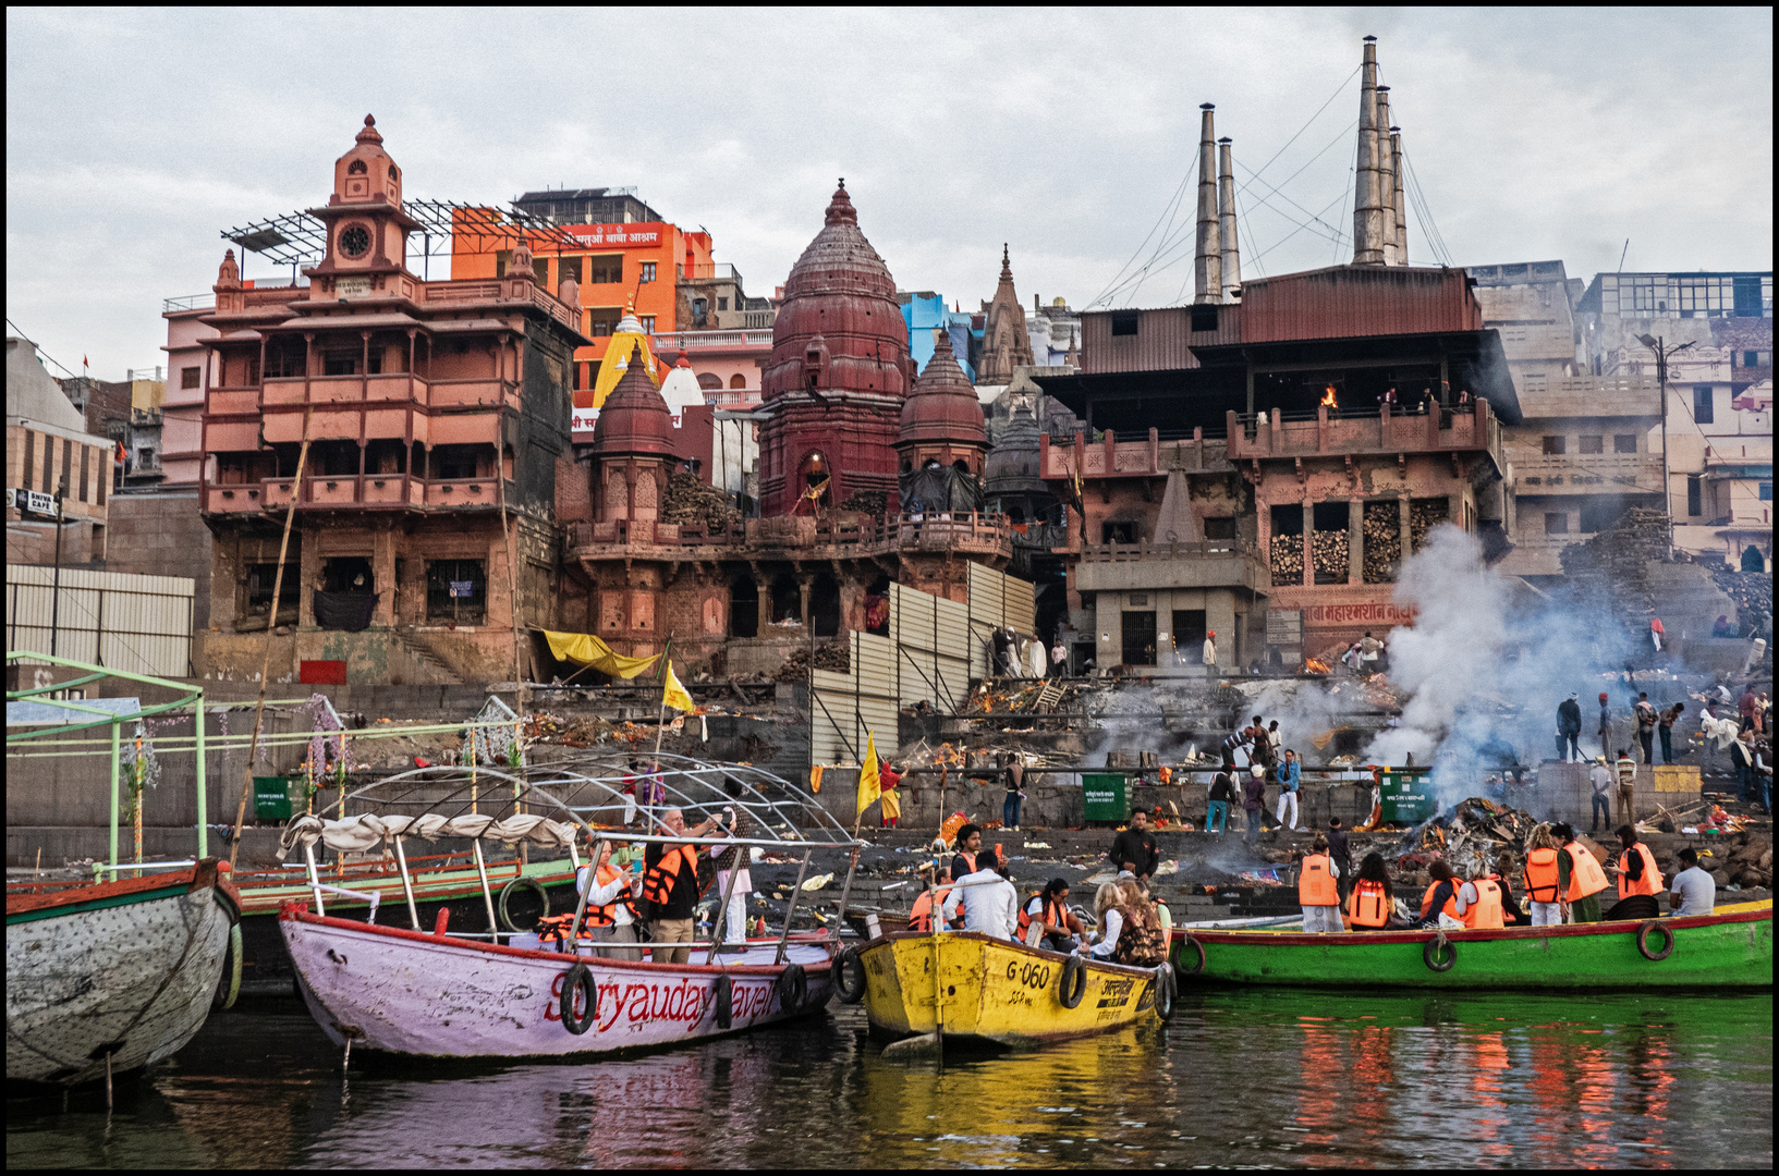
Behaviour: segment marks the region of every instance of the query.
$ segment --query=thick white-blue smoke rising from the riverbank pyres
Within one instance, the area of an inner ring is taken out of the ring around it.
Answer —
[[[1482,776],[1507,760],[1555,754],[1557,706],[1571,692],[1582,747],[1594,754],[1598,694],[1610,692],[1621,717],[1635,701],[1614,676],[1628,640],[1606,601],[1532,592],[1484,564],[1482,544],[1457,527],[1429,534],[1395,596],[1416,610],[1413,626],[1389,632],[1389,680],[1409,701],[1402,726],[1373,738],[1363,760],[1432,763],[1441,806],[1477,795]]]

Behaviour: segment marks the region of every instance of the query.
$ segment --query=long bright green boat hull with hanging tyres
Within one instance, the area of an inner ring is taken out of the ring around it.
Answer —
[[[1772,902],[1715,914],[1501,930],[1174,929],[1183,984],[1429,989],[1772,987]]]

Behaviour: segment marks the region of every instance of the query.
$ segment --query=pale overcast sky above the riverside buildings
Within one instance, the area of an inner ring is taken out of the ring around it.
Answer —
[[[160,363],[160,301],[208,290],[219,230],[320,203],[366,112],[409,196],[635,185],[756,295],[845,176],[904,288],[989,297],[1005,240],[1026,302],[1169,304],[1201,101],[1244,274],[1350,258],[1364,34],[1430,210],[1413,262],[1772,267],[1768,9],[14,7],[7,329]]]

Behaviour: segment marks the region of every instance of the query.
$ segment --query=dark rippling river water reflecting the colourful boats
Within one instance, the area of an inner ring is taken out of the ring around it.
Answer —
[[[219,1014],[7,1167],[1772,1167],[1772,996],[1197,991],[1167,1027],[886,1062],[859,1009],[596,1064],[352,1059]]]

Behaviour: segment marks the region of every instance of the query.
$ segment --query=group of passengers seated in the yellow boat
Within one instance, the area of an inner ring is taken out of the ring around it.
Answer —
[[[1139,818],[1142,815],[1139,813]],[[954,858],[941,868],[938,861],[920,866],[925,890],[914,898],[909,930],[975,930],[996,939],[1046,946],[1053,952],[1082,952],[1117,964],[1153,968],[1167,959],[1167,907],[1149,897],[1156,858],[1155,840],[1144,838],[1140,820],[1137,852],[1130,868],[1094,893],[1094,929],[1069,907],[1067,879],[1051,879],[1042,890],[1025,895],[1014,886],[1007,859],[996,845],[982,849],[982,829],[964,826],[954,842]],[[1142,842],[1146,840],[1146,847]],[[1146,872],[1139,875],[1135,868]]]

